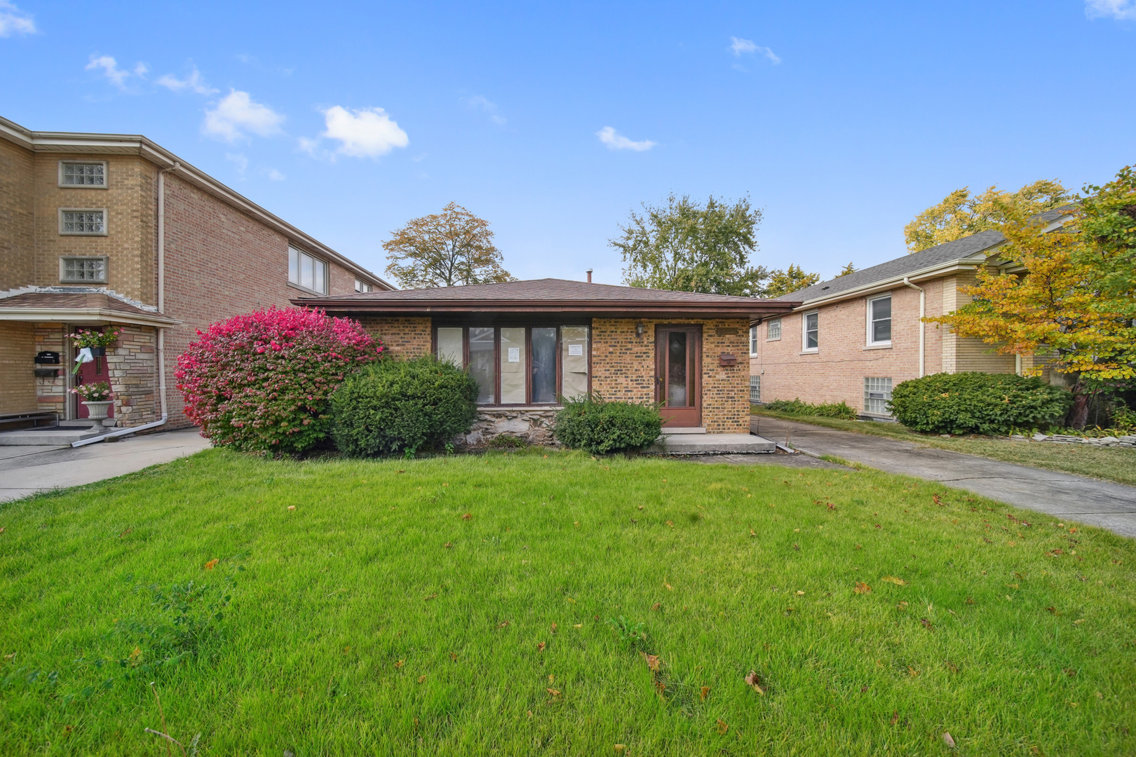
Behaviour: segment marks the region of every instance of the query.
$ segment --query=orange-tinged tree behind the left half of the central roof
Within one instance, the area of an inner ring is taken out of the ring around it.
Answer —
[[[407,222],[383,243],[386,274],[403,288],[516,281],[501,267],[490,222],[451,202]]]

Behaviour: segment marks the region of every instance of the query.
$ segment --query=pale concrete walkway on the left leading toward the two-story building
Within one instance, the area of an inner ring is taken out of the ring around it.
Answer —
[[[0,502],[36,491],[94,483],[209,448],[198,429],[99,441],[85,447],[0,447]]]

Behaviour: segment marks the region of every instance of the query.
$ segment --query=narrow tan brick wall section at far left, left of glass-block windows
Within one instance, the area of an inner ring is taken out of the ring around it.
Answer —
[[[0,292],[34,276],[34,165],[31,150],[0,140]]]

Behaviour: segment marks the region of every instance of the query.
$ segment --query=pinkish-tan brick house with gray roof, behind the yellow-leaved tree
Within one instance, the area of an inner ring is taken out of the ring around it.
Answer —
[[[1060,228],[1064,210],[1039,213],[1045,230]],[[821,281],[778,297],[783,311],[750,329],[750,398],[844,401],[863,419],[889,419],[892,387],[929,373],[1021,373],[1030,355],[999,355],[980,339],[962,338],[921,317],[950,313],[970,298],[962,287],[979,269],[1021,269],[999,258],[999,232],[971,236]],[[1062,382],[1055,371],[1043,378]]]

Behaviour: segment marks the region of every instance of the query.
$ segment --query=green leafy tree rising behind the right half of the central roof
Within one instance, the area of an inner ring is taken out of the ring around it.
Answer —
[[[619,250],[629,286],[677,292],[704,292],[744,297],[761,296],[768,274],[751,266],[761,211],[743,199],[735,203],[711,196],[705,204],[690,196],[667,197],[663,205],[643,205],[630,213],[620,236],[609,244]]]

